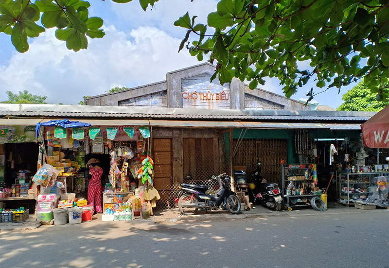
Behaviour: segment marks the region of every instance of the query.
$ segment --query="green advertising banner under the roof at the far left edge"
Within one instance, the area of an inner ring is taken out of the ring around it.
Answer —
[[[35,126],[0,126],[0,144],[36,142]]]

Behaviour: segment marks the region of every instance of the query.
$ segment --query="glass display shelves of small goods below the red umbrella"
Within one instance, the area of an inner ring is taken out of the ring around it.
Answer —
[[[350,206],[355,201],[372,200],[378,190],[374,178],[387,175],[388,172],[339,173],[339,203]]]

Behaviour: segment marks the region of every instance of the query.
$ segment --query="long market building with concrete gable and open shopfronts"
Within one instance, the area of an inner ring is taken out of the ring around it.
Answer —
[[[258,162],[265,179],[279,184],[283,195],[290,178],[301,179],[306,171],[306,179],[317,175],[315,188],[329,185],[333,200],[347,199],[349,205],[357,198],[342,192],[347,180],[340,173],[357,160],[359,165],[369,164],[368,154],[360,153],[364,150],[360,125],[375,113],[309,107],[265,90],[250,90],[235,79],[223,85],[217,79],[211,83],[213,71],[208,63],[173,71],[166,74],[166,81],[90,97],[85,106],[0,104],[4,130],[0,186],[15,188],[14,194],[5,194],[3,188],[0,201],[33,210],[35,196],[28,194],[26,184],[44,162],[61,171],[58,180],[65,184],[65,192],[82,194],[88,164],[98,159],[104,170],[106,209],[117,202],[112,193],[130,195],[148,184],[147,174],[138,177],[148,156],[153,160],[151,180],[160,196],[154,202],[160,209],[175,207],[178,184],[204,183],[223,172],[231,174],[231,188],[239,186],[243,196],[248,195],[248,174]],[[50,122],[64,119],[88,125],[61,130]],[[37,123],[42,125],[36,138]],[[376,164],[384,164],[389,156],[385,150],[368,153],[376,156]],[[293,170],[292,164],[304,165],[299,167],[303,173]],[[109,174],[115,170],[118,176]],[[238,174],[242,170],[246,175]],[[23,190],[16,187],[20,181],[25,183]],[[296,187],[301,183],[295,182]],[[299,205],[298,200],[285,197],[285,206]]]

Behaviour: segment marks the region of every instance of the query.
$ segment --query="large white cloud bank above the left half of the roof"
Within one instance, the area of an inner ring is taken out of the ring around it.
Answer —
[[[48,96],[49,103],[76,104],[83,96],[162,81],[169,71],[199,63],[188,51],[177,53],[180,40],[157,28],[124,33],[109,26],[105,32],[102,39],[89,39],[87,50],[73,52],[48,30],[28,52],[0,65],[1,91],[28,90]]]

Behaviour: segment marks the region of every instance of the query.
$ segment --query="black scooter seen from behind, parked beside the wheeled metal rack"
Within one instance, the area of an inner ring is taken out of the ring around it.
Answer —
[[[248,187],[251,194],[249,199],[254,204],[262,204],[268,208],[274,208],[276,211],[281,211],[283,209],[281,190],[276,183],[264,183],[261,171],[262,165],[259,162],[256,170],[250,174]]]

